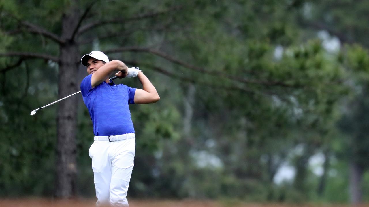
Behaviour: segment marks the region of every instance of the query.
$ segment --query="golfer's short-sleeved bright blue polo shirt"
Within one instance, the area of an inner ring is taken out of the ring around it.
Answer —
[[[134,133],[128,104],[134,104],[136,88],[105,81],[92,88],[91,77],[85,77],[80,87],[95,136]]]

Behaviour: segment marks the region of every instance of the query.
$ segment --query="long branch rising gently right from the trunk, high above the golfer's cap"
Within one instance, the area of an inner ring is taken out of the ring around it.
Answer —
[[[142,20],[142,19],[146,19],[146,18],[156,17],[156,16],[159,16],[161,14],[166,14],[166,13],[169,13],[169,12],[172,12],[172,11],[176,11],[179,8],[182,8],[182,7],[173,7],[173,8],[170,8],[168,10],[165,10],[165,11],[158,11],[158,12],[154,12],[154,13],[137,15],[135,17],[127,18],[127,19],[112,19],[112,20],[91,22],[90,24],[86,24],[86,25],[82,26],[79,29],[78,34],[82,34],[86,31],[88,31],[89,29],[96,28],[96,27],[101,27],[101,26],[104,26],[104,25],[107,25],[107,24],[122,24],[122,23],[125,23],[127,21],[136,21],[136,20]]]

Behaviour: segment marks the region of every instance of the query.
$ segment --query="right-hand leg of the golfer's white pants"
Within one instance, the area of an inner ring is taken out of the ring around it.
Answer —
[[[117,141],[111,149],[111,206],[128,207],[126,196],[134,166],[135,146],[135,139],[131,138]]]

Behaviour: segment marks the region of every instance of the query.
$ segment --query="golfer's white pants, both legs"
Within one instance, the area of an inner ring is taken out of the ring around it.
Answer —
[[[89,155],[96,189],[96,206],[127,206],[126,199],[130,183],[135,137],[119,141],[94,141]]]

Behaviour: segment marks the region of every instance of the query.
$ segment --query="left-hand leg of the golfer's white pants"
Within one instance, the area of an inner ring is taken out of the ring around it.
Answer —
[[[89,150],[96,189],[96,206],[108,206],[110,203],[111,164],[108,147],[109,143],[106,141],[94,141]]]

